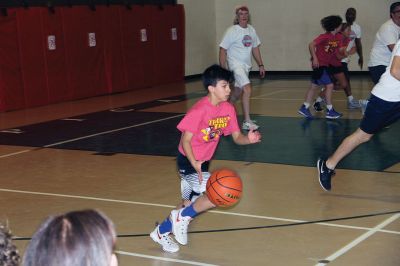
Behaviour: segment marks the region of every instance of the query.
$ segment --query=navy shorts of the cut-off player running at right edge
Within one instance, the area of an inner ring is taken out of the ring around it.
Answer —
[[[400,102],[387,102],[371,95],[360,123],[362,131],[375,134],[400,118]]]

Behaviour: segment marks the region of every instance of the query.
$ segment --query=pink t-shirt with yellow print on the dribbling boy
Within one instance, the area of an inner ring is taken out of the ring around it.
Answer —
[[[198,161],[209,161],[214,155],[220,137],[240,131],[236,111],[229,102],[221,102],[218,106],[210,103],[208,96],[200,99],[185,115],[177,128],[181,132],[193,134],[191,140],[193,154]],[[183,151],[182,141],[179,151]]]

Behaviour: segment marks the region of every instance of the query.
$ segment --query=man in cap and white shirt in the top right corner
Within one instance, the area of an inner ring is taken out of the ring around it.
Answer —
[[[400,2],[395,2],[390,5],[390,19],[379,28],[371,49],[368,69],[375,84],[389,65],[393,47],[399,37]]]

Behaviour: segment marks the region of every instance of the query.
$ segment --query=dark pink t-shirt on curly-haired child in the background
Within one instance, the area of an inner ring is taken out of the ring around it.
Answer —
[[[336,57],[336,50],[341,46],[342,34],[326,32],[314,39],[315,53],[320,66],[329,66]]]

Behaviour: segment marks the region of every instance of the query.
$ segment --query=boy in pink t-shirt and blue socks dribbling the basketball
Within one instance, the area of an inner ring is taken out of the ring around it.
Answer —
[[[203,73],[203,85],[207,96],[200,99],[180,121],[177,128],[182,132],[177,164],[181,177],[181,209],[171,214],[158,225],[150,237],[167,252],[179,251],[179,245],[170,236],[175,235],[179,244],[187,244],[187,229],[198,214],[216,207],[203,194],[210,177],[209,163],[220,138],[232,135],[236,144],[246,145],[261,141],[258,131],[250,130],[243,135],[236,118],[234,106],[227,100],[233,79],[231,71],[218,65],[208,67]]]

